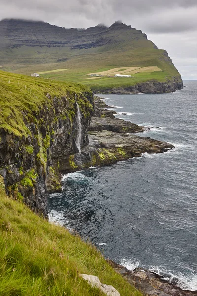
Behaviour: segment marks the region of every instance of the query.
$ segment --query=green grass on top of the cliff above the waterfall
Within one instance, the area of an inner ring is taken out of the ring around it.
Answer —
[[[74,98],[74,93],[78,95],[82,92],[90,90],[71,82],[63,83],[0,71],[0,128],[17,136],[27,135],[29,130],[21,112],[32,122],[44,104],[52,104],[53,97]]]

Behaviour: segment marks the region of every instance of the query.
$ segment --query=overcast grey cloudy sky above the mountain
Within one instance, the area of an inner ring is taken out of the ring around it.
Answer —
[[[197,80],[197,0],[0,0],[0,20],[4,18],[65,28],[121,20],[167,50],[183,79]]]

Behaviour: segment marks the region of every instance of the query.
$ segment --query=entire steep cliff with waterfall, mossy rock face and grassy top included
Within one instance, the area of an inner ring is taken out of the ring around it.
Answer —
[[[31,83],[32,88],[39,84],[36,93],[41,96],[38,108],[33,104],[38,96],[31,97],[30,90],[26,91],[27,99],[31,101],[23,102],[24,98],[18,91],[23,84],[22,76],[0,74],[4,80],[0,84],[0,174],[9,196],[23,200],[47,217],[46,190],[61,189],[59,164],[55,159],[62,154],[78,152],[77,112],[80,112],[81,120],[80,146],[88,143],[87,129],[93,112],[92,92],[83,86],[37,82],[27,77],[25,83]],[[7,78],[12,86],[7,85]],[[16,81],[18,83],[14,85]],[[56,90],[56,95],[54,88],[59,90]],[[4,93],[6,101],[3,100]],[[17,96],[20,97],[18,100]]]

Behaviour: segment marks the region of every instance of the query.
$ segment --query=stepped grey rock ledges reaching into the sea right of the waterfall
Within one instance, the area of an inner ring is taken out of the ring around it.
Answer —
[[[175,148],[172,144],[139,137],[145,131],[137,124],[117,119],[116,113],[99,97],[94,98],[95,111],[89,126],[89,144],[81,153],[62,155],[58,161],[62,173],[88,169],[91,166],[111,165],[143,153],[163,153]]]

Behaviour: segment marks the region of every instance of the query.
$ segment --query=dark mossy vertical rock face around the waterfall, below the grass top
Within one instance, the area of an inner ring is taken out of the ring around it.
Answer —
[[[50,94],[46,95],[50,98]],[[23,200],[47,217],[46,190],[61,190],[57,157],[76,153],[77,106],[73,95],[50,98],[34,122],[25,122],[30,135],[22,138],[0,130],[0,174],[7,194]],[[93,113],[92,92],[77,97],[81,110],[81,146],[88,144],[88,126]]]

